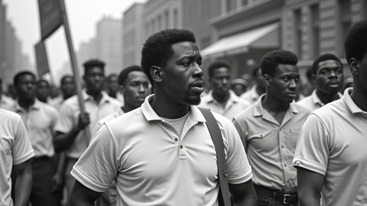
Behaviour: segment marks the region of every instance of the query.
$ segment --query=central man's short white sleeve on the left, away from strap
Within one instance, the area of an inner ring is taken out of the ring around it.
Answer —
[[[81,155],[71,174],[84,186],[106,191],[117,175],[116,146],[106,125],[97,131],[90,146]]]

